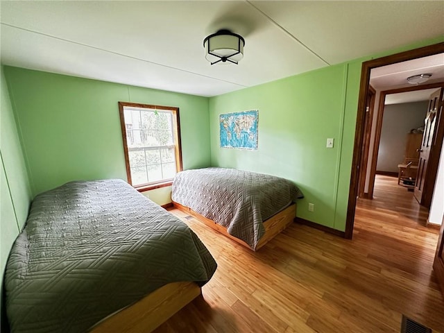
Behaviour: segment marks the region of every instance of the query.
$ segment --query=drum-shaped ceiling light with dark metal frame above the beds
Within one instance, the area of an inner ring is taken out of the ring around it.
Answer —
[[[231,62],[236,64],[244,58],[245,40],[241,35],[229,30],[219,30],[203,40],[205,58],[211,65]]]

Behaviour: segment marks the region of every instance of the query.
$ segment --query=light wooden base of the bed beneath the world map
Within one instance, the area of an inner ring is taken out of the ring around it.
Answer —
[[[191,210],[191,208],[189,207],[180,205],[180,203],[176,203],[173,201],[173,205],[179,210],[182,210],[182,212],[194,216],[196,219],[198,219],[198,221],[205,223],[210,228],[213,228],[214,230],[220,232],[221,234],[224,234],[226,237],[229,237],[233,241],[237,241],[237,243],[246,246],[251,250],[250,246],[246,244],[245,241],[242,241],[241,239],[229,234],[227,232],[227,229],[222,225],[219,225],[213,220],[207,219],[205,216],[194,212],[194,210]],[[279,234],[282,230],[287,228],[287,226],[290,225],[294,221],[294,219],[296,219],[296,203],[289,205],[289,207],[285,208],[284,210],[281,210],[280,212],[278,212],[278,214],[275,214],[271,216],[270,219],[264,221],[265,234],[264,236],[262,236],[261,239],[259,239],[255,251],[259,250],[259,248],[262,248],[262,246],[267,244],[268,241],[271,241],[271,239],[273,239],[277,234]]]

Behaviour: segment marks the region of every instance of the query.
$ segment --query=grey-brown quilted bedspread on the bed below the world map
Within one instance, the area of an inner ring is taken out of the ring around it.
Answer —
[[[224,168],[182,171],[171,194],[173,201],[223,225],[253,250],[265,232],[263,221],[302,197],[290,180]]]

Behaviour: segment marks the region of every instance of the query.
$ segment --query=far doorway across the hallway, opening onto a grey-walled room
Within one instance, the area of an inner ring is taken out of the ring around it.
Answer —
[[[404,225],[406,230],[412,230],[413,225],[425,227],[429,221],[429,207],[420,205],[413,194],[428,100],[436,90],[423,89],[382,96],[383,108],[379,110],[382,126],[378,131],[378,144],[375,145],[377,157],[372,161],[372,169],[376,171],[370,184],[371,198],[359,195],[358,199],[358,205],[370,205],[387,214],[399,216],[398,223]],[[356,228],[360,229],[359,225]]]

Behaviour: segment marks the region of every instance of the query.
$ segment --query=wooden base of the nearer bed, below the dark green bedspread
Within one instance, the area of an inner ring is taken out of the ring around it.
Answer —
[[[103,319],[89,332],[153,332],[173,314],[200,295],[200,287],[194,282],[169,283],[130,307]]]

